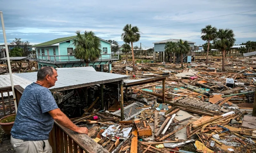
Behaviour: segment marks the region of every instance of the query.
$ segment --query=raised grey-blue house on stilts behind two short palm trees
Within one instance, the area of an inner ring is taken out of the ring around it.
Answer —
[[[154,61],[160,61],[160,62],[165,62],[166,57],[169,55],[166,55],[165,53],[165,44],[168,41],[172,42],[178,42],[180,39],[167,39],[167,40],[162,40],[162,41],[157,41],[153,42],[154,44]],[[198,47],[194,46],[195,42],[188,41],[189,47],[190,47],[190,52],[186,55],[183,55],[183,62],[192,62],[195,60],[195,53],[193,51],[198,50]],[[175,54],[175,62],[180,62],[180,54]],[[169,59],[169,58],[168,58]]]

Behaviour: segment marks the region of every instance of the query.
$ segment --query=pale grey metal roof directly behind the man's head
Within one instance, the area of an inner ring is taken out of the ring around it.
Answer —
[[[130,78],[126,75],[97,72],[92,67],[58,68],[57,73],[58,81],[56,81],[55,86],[49,88],[51,91],[62,91]],[[14,73],[12,77],[14,85],[20,85],[25,89],[29,84],[36,82],[37,72]],[[7,86],[11,86],[9,74],[0,75],[0,87]]]

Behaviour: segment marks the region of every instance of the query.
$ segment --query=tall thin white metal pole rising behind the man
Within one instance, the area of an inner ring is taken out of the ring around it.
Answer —
[[[8,69],[9,69],[11,85],[12,85],[12,95],[13,95],[13,99],[14,99],[15,112],[17,113],[17,102],[16,102],[16,96],[15,96],[13,80],[12,80],[12,68],[11,68],[11,63],[10,63],[8,45],[7,45],[7,41],[6,41],[6,34],[5,34],[5,28],[4,28],[4,18],[3,18],[3,12],[2,11],[0,11],[0,16],[1,16],[1,22],[2,22],[2,28],[3,28],[4,44],[5,44],[5,51],[6,51],[6,56],[7,56]]]

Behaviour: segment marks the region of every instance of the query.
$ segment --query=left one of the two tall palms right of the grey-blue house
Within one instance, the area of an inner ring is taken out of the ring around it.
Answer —
[[[206,53],[206,61],[205,64],[208,64],[208,54],[209,54],[209,45],[210,41],[214,40],[216,37],[217,33],[217,28],[212,27],[212,25],[206,25],[204,28],[201,29],[201,34],[204,34],[201,36],[202,40],[207,40],[208,41],[208,47],[207,47],[207,53]],[[204,49],[205,50],[205,49]]]

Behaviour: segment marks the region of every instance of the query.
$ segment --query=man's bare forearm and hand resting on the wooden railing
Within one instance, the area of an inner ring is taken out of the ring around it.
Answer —
[[[48,113],[52,116],[53,120],[56,120],[63,127],[80,134],[88,134],[88,129],[86,127],[77,127],[63,112],[61,112],[60,108],[51,110]]]

